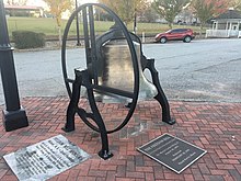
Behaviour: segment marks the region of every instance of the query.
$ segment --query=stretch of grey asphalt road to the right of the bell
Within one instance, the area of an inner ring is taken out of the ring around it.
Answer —
[[[156,55],[161,83],[170,99],[240,102],[240,46],[241,39],[203,39],[147,45],[145,53]]]

